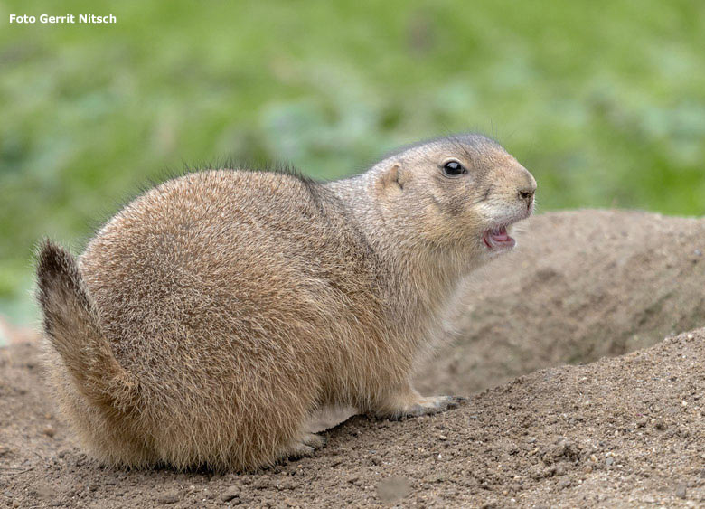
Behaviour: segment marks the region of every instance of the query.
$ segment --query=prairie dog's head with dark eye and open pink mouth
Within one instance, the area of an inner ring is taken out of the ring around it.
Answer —
[[[536,181],[494,140],[445,137],[402,149],[371,169],[372,193],[403,240],[468,250],[481,259],[511,250],[514,222],[534,208]]]

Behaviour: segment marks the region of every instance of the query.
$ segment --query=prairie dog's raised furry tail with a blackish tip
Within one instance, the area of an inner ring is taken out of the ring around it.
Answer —
[[[100,332],[98,313],[76,259],[45,240],[38,256],[37,283],[45,335],[61,355],[76,388],[94,405],[123,411],[133,408],[137,382],[120,366]]]

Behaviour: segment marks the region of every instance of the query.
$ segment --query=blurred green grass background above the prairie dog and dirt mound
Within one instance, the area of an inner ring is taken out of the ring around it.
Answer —
[[[8,22],[81,13],[118,24]],[[3,0],[0,315],[33,320],[38,239],[80,250],[184,162],[327,179],[465,130],[542,211],[705,213],[705,3]]]

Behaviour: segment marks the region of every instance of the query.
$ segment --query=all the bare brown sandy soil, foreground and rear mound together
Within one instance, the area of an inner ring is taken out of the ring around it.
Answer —
[[[0,349],[0,506],[705,505],[705,221],[561,212],[524,237],[421,366],[419,386],[467,405],[355,417],[262,472],[101,467],[56,415],[36,344]]]

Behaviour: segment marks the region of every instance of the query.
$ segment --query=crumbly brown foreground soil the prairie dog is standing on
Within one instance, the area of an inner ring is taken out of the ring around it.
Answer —
[[[445,414],[356,417],[314,457],[249,475],[100,467],[54,418],[36,363],[31,344],[2,352],[8,506],[705,504],[705,329],[534,372]]]

